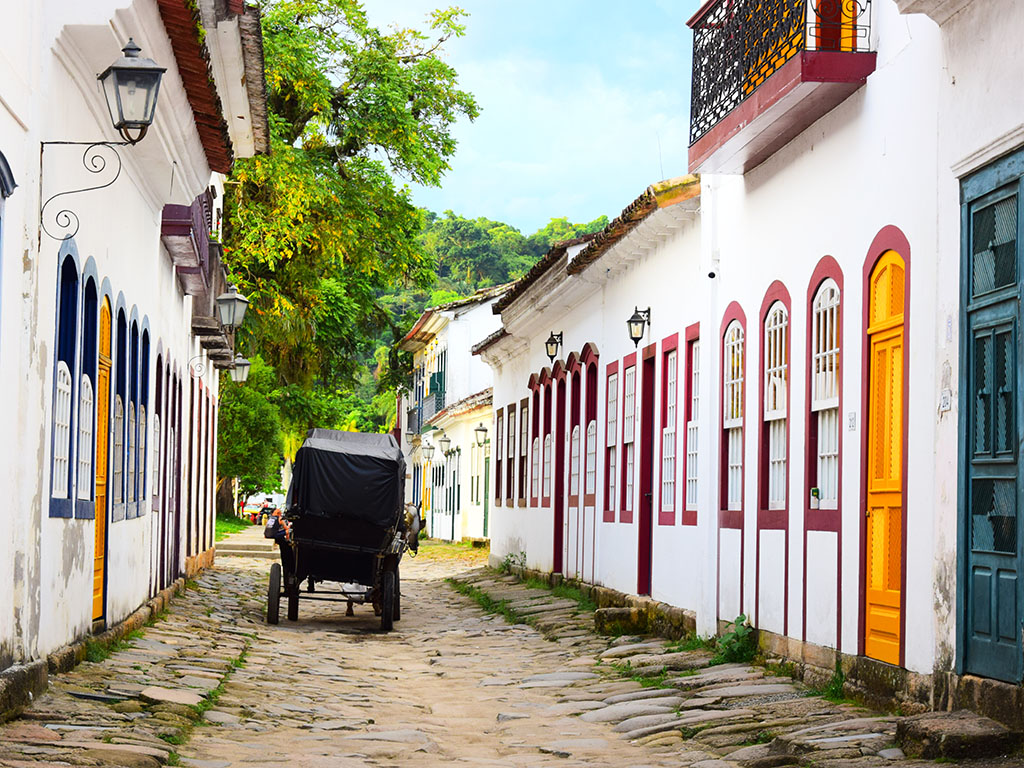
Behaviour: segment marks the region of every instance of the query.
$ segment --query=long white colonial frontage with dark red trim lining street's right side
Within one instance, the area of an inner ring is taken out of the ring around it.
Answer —
[[[530,414],[493,557],[993,711],[1024,675],[1024,8],[710,0],[690,26],[695,175],[553,249],[475,347]]]

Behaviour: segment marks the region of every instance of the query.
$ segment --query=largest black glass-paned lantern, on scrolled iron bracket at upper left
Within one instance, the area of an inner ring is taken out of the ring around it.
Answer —
[[[124,55],[108,67],[98,80],[103,84],[111,122],[125,141],[134,144],[142,140],[153,125],[160,80],[167,68],[140,56],[142,49],[131,38],[121,51]],[[131,131],[138,132],[132,135]]]

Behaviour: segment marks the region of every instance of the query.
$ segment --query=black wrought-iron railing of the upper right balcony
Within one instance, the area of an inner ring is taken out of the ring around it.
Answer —
[[[690,144],[801,51],[865,52],[871,0],[717,0],[693,26]]]

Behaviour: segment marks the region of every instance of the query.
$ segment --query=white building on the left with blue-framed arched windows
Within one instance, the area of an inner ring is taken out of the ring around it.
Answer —
[[[233,157],[266,151],[267,125],[258,12],[240,0],[40,0],[0,16],[6,667],[212,561],[232,357],[214,319],[221,182]],[[89,146],[122,140],[97,75],[129,39],[166,68],[153,125],[137,144]]]

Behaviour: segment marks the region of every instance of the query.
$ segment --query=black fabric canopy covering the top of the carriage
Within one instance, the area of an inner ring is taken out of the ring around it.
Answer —
[[[310,429],[285,504],[291,512],[391,527],[404,497],[406,459],[393,435]]]

